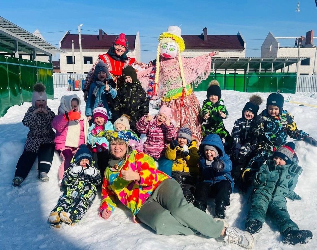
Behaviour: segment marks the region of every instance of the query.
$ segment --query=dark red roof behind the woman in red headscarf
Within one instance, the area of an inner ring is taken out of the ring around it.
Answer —
[[[81,35],[81,48],[92,49],[109,49],[117,35],[102,35],[102,40],[99,41],[99,35]],[[136,35],[126,35],[129,42],[129,49],[135,47]],[[61,41],[61,49],[72,48],[72,40],[74,40],[74,48],[79,48],[79,36],[74,34],[66,34]]]

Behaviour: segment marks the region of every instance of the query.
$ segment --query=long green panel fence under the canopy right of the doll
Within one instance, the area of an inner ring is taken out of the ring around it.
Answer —
[[[214,74],[202,81],[194,91],[206,91],[211,80],[217,79],[221,89],[240,92],[295,93],[296,73]]]

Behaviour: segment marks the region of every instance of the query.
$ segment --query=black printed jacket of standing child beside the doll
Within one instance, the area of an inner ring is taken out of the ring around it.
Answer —
[[[125,83],[117,91],[117,97],[113,100],[113,121],[123,114],[130,116],[130,129],[137,131],[135,124],[149,112],[149,99],[139,81]]]

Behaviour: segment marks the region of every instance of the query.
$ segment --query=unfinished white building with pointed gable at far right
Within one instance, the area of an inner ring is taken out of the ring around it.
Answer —
[[[262,47],[261,47],[261,57],[270,57],[270,58],[307,58],[298,63],[298,75],[312,75],[313,70],[316,72],[316,46],[313,44],[314,31],[308,31],[305,37],[298,38],[299,48],[292,47],[281,47],[280,42],[277,38],[269,32],[265,38]],[[296,37],[287,37],[293,39],[295,42]],[[315,64],[315,67],[314,67]],[[282,72],[278,70],[277,72]],[[296,72],[296,63],[289,65],[285,72]],[[316,73],[315,73],[316,74]]]

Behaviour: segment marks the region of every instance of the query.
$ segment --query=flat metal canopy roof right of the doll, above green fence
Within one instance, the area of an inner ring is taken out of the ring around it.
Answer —
[[[261,70],[271,70],[273,62],[273,70],[278,70],[304,60],[307,57],[291,57],[291,58],[261,58],[261,57],[213,57],[211,67],[215,70],[259,70],[261,63]],[[215,64],[213,66],[213,63]],[[248,67],[249,63],[249,67]]]

